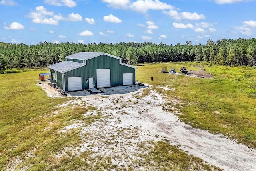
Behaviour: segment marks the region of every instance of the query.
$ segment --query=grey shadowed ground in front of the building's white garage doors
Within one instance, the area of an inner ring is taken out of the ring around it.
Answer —
[[[109,88],[99,88],[102,93],[98,93],[99,95],[112,95],[112,94],[127,94],[130,92],[136,92],[142,88],[146,88],[148,86],[139,86],[139,85],[127,85],[127,86],[116,86],[116,87],[109,87]],[[92,95],[87,90],[76,91],[76,92],[68,92],[68,94],[72,97],[77,96],[90,96]]]

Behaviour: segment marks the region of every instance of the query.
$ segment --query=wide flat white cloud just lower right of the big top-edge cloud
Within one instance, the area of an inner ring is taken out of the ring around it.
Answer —
[[[191,12],[181,12],[178,13],[175,10],[170,10],[169,12],[167,11],[163,11],[164,14],[167,14],[168,16],[170,16],[171,18],[175,19],[175,20],[200,20],[200,19],[204,19],[205,16],[204,14],[197,14],[196,12],[191,13]]]

